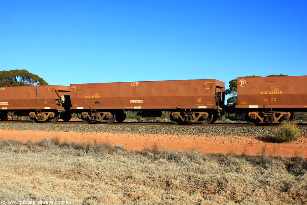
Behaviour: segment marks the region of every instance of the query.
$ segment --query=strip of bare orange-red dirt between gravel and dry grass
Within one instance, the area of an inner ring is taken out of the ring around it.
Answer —
[[[113,145],[123,145],[128,149],[142,150],[152,146],[167,150],[197,149],[205,153],[245,153],[247,155],[267,154],[272,156],[303,156],[307,158],[307,138],[291,143],[274,143],[265,137],[242,136],[191,136],[191,135],[161,135],[161,134],[123,134],[108,132],[63,132],[63,131],[31,131],[0,129],[0,138],[15,139],[23,142],[58,137],[63,141],[108,142]]]

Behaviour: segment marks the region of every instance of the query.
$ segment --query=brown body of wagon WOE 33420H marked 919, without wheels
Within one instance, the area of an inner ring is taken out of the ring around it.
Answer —
[[[71,109],[218,109],[216,79],[72,84]]]

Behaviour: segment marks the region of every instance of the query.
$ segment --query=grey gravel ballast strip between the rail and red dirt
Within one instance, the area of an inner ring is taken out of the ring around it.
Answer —
[[[257,126],[195,126],[195,125],[123,125],[123,124],[78,124],[78,123],[0,123],[0,129],[42,130],[66,132],[117,132],[132,134],[174,134],[174,135],[207,135],[207,136],[272,136],[277,127]],[[303,136],[307,136],[307,127],[300,127]]]

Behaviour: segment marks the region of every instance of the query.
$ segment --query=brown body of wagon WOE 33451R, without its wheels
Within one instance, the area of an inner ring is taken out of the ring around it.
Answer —
[[[236,108],[307,109],[307,76],[240,77]]]

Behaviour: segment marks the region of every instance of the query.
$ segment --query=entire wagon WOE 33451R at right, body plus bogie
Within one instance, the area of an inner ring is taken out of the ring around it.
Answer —
[[[307,111],[307,76],[237,78],[237,112],[250,124],[294,119],[293,111]]]

